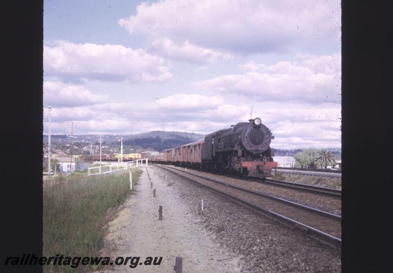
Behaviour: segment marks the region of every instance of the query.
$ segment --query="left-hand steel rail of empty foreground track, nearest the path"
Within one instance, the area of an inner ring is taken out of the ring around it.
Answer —
[[[337,237],[335,237],[333,235],[327,234],[327,233],[325,233],[325,232],[323,232],[323,231],[321,231],[319,229],[313,228],[313,227],[311,227],[309,225],[306,225],[304,223],[301,223],[299,221],[296,221],[296,220],[293,220],[291,218],[285,217],[285,216],[283,216],[281,214],[278,214],[278,213],[275,213],[273,211],[270,211],[270,210],[267,210],[265,208],[262,208],[261,206],[252,204],[252,203],[250,203],[249,201],[247,201],[247,200],[245,200],[243,198],[240,198],[240,197],[234,196],[234,195],[232,195],[230,193],[227,193],[227,192],[215,189],[214,187],[211,187],[211,186],[208,186],[206,184],[203,184],[203,183],[201,183],[201,182],[199,182],[199,181],[197,181],[195,179],[183,176],[183,175],[181,175],[181,174],[179,174],[179,173],[169,169],[168,167],[164,167],[164,166],[158,165],[158,164],[156,164],[156,166],[161,167],[161,168],[163,168],[163,169],[165,169],[165,170],[167,170],[169,172],[172,172],[172,173],[174,173],[174,174],[176,174],[176,175],[178,175],[180,177],[186,178],[186,179],[188,179],[188,180],[190,180],[190,181],[192,181],[194,183],[197,183],[198,185],[200,185],[202,187],[206,187],[207,189],[209,189],[211,191],[214,191],[214,192],[219,193],[219,194],[221,194],[221,195],[223,195],[225,197],[228,197],[228,198],[234,200],[235,202],[240,203],[240,204],[242,204],[242,205],[252,209],[253,211],[255,211],[255,212],[259,213],[259,214],[268,216],[269,218],[272,218],[272,219],[279,220],[281,223],[287,224],[287,225],[289,225],[291,227],[300,228],[301,230],[306,231],[307,234],[309,234],[310,236],[312,236],[312,237],[314,237],[316,239],[319,239],[320,241],[323,241],[325,243],[328,243],[329,245],[337,246],[338,248],[341,248],[341,239],[340,238],[337,238]]]

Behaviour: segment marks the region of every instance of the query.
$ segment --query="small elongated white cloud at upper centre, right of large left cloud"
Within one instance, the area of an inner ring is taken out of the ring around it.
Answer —
[[[230,58],[230,55],[190,44],[188,40],[180,45],[167,38],[156,39],[147,50],[165,58],[195,63],[213,63]]]

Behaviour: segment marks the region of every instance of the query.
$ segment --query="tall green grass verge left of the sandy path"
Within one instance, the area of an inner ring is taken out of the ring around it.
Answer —
[[[142,173],[132,169],[133,185]],[[43,194],[43,255],[98,256],[108,209],[130,193],[129,174],[86,176],[83,172],[49,181]],[[86,272],[89,266],[45,266],[44,272]]]

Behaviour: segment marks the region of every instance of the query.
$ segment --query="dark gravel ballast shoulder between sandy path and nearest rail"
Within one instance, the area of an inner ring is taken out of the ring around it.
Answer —
[[[155,175],[168,178],[170,188],[185,200],[185,210],[199,219],[202,229],[214,233],[212,240],[241,257],[247,265],[241,272],[341,272],[341,252],[337,248],[159,167],[152,168]],[[204,210],[198,216],[201,199]]]

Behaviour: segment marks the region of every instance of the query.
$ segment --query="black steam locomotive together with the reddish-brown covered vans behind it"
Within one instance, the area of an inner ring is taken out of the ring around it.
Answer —
[[[271,177],[274,151],[272,132],[260,118],[211,133],[203,140],[164,150],[157,163],[217,170],[247,177]],[[153,161],[154,162],[154,161]]]

